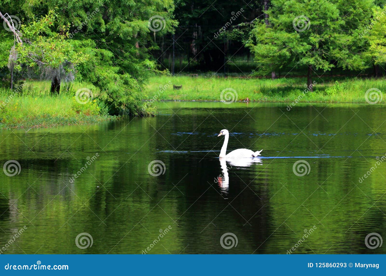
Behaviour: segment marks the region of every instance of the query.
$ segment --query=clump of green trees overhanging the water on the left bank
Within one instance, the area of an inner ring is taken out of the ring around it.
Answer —
[[[50,46],[49,42],[53,43],[54,49],[48,49],[52,51],[47,53],[56,67],[39,64],[41,58],[49,59],[44,54],[34,56],[36,59],[32,60],[37,68],[45,69],[44,76],[59,76],[53,81],[53,91],[58,91],[61,76],[71,79],[74,75],[75,80],[90,82],[99,88],[100,97],[108,103],[110,113],[124,110],[143,115],[139,108],[143,98],[141,84],[158,71],[150,53],[152,49],[158,49],[154,37],[173,32],[177,25],[173,19],[173,0],[144,0],[141,3],[47,0],[33,4],[31,1],[3,0],[2,10],[22,19],[24,32],[33,31],[36,24],[42,24],[36,15],[50,16],[49,11],[56,10],[51,26],[36,32],[37,37],[29,38],[30,45],[40,44],[41,49]],[[151,20],[154,18],[158,19],[156,23]],[[161,24],[159,29],[157,23]],[[152,24],[156,24],[156,28]],[[0,31],[1,36],[4,32]],[[29,47],[25,42],[23,45]],[[23,56],[27,57],[28,54]]]

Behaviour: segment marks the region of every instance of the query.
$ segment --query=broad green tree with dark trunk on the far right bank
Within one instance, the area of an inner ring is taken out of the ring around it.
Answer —
[[[265,20],[256,20],[247,43],[261,64],[260,73],[306,66],[307,86],[312,91],[312,72],[335,66],[365,68],[364,39],[359,30],[369,21],[372,0],[360,2],[272,0]]]

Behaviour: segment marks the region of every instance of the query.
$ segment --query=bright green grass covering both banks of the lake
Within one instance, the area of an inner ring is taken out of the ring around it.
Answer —
[[[147,100],[237,100],[262,102],[347,102],[366,103],[365,93],[370,88],[386,91],[386,82],[379,79],[314,78],[317,84],[313,92],[304,87],[306,78],[223,78],[211,73],[199,77],[154,76],[144,85]],[[182,85],[179,90],[173,85]],[[91,124],[114,119],[107,115],[104,103],[98,100],[98,90],[84,83],[63,84],[59,96],[49,93],[49,81],[29,81],[18,93],[0,89],[0,129],[16,127],[53,127],[56,125]],[[93,99],[86,104],[76,101],[79,88],[89,88]],[[163,88],[160,88],[163,87]],[[230,90],[232,88],[233,90]],[[221,99],[221,92],[223,99]],[[234,92],[235,91],[235,92]],[[226,95],[226,92],[230,92]],[[386,100],[386,99],[385,99]],[[382,100],[379,103],[384,103]],[[147,104],[147,103],[144,103]]]

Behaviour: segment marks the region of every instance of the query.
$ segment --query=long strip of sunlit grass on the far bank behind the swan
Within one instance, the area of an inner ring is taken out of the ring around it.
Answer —
[[[383,79],[357,79],[342,77],[315,77],[313,92],[308,92],[305,86],[306,78],[279,78],[276,80],[261,78],[221,78],[190,77],[190,76],[156,76],[149,80],[144,88],[146,98],[161,100],[208,100],[220,101],[221,92],[230,100],[232,88],[237,93],[238,100],[249,98],[251,101],[263,102],[366,102],[365,93],[370,88],[386,91]],[[170,81],[170,82],[169,82]],[[166,88],[169,82],[169,87]],[[173,85],[182,88],[173,89]],[[161,86],[165,89],[160,88]],[[230,92],[229,95],[225,95]],[[303,93],[304,92],[304,93]],[[381,101],[380,103],[383,103]]]

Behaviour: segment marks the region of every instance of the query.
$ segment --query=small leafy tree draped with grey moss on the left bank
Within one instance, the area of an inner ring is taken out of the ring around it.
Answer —
[[[87,55],[75,51],[66,39],[69,24],[61,26],[60,32],[51,30],[57,15],[50,10],[41,19],[34,19],[28,25],[22,24],[14,30],[16,44],[12,46],[8,67],[22,70],[22,65],[51,80],[51,94],[59,94],[60,82],[75,79],[75,66],[87,60]],[[12,26],[10,26],[12,28]]]

